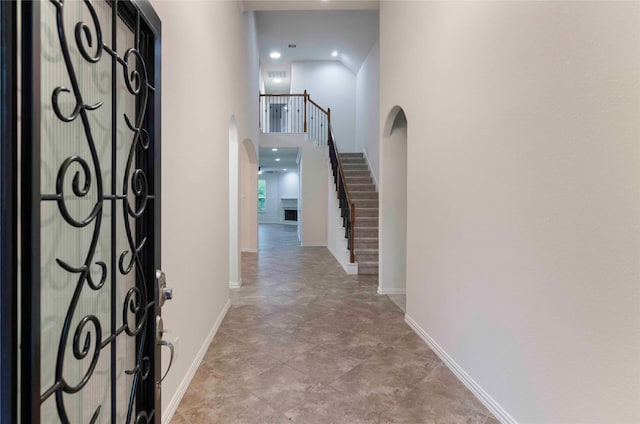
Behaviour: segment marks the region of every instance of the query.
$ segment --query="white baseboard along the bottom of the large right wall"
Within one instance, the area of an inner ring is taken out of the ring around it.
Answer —
[[[478,398],[480,402],[503,424],[517,424],[517,421],[496,402],[456,361],[424,331],[408,314],[404,315],[404,321],[416,332],[418,336],[440,357],[442,362],[453,372],[458,380],[466,386]]]

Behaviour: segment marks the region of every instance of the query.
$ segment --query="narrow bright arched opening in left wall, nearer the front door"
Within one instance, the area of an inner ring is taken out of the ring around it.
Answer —
[[[229,287],[242,286],[240,275],[240,143],[236,118],[229,122]]]

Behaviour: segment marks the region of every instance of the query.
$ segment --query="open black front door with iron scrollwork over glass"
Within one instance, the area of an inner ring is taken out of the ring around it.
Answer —
[[[21,3],[21,422],[160,422],[160,21]]]

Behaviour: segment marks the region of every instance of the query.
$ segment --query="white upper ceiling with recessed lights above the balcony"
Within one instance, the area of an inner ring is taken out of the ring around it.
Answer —
[[[259,2],[263,3],[263,2]],[[271,2],[264,2],[271,3]],[[274,2],[289,5],[298,2]],[[337,3],[356,3],[363,7],[371,2],[302,2],[327,9]],[[377,9],[367,10],[286,10],[256,12],[260,68],[266,93],[289,93],[291,63],[297,61],[339,60],[354,74],[378,40]],[[289,48],[295,44],[295,48]],[[332,57],[332,51],[338,51]],[[278,51],[280,59],[269,53]],[[282,83],[273,83],[269,72],[284,72]]]

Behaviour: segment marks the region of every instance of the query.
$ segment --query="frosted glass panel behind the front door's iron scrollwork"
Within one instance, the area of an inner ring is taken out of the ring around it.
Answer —
[[[126,197],[135,209],[131,189],[135,160],[128,173],[126,169],[134,132],[124,116],[135,122],[136,96],[125,85],[122,63],[117,64],[114,80],[112,56],[104,49],[98,55],[99,35],[104,45],[112,46],[112,9],[102,1],[91,5],[42,2],[40,353],[44,423],[59,423],[65,415],[72,423],[110,423],[113,405],[115,422],[126,422],[134,378],[125,371],[136,367],[136,337],[123,330],[123,311],[133,329],[140,314],[136,318],[131,305],[142,300],[139,292],[127,298],[136,285],[138,269],[129,270],[133,254],[127,234],[135,243],[136,222],[124,201],[126,185]],[[58,36],[58,7],[63,11],[69,63]],[[118,55],[123,57],[134,42],[133,31],[118,19]],[[84,110],[79,98],[86,105]],[[133,413],[135,419],[135,407]]]

